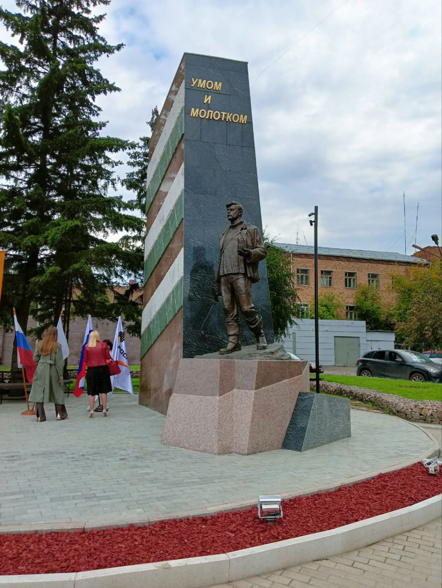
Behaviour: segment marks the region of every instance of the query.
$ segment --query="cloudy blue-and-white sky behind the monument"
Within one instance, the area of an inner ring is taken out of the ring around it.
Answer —
[[[442,240],[440,0],[112,0],[106,12],[102,34],[126,45],[100,62],[121,88],[100,102],[109,133],[147,134],[183,52],[248,61],[270,235],[312,245],[318,205],[320,245],[403,253],[405,192],[407,253]]]

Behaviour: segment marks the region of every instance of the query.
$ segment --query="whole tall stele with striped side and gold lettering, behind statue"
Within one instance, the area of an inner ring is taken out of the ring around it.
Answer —
[[[185,54],[149,153],[139,402],[165,413],[179,359],[226,344],[215,297],[226,204],[240,202],[262,235],[247,64]],[[253,303],[272,343],[265,261],[259,273]],[[243,319],[240,341],[255,343]]]

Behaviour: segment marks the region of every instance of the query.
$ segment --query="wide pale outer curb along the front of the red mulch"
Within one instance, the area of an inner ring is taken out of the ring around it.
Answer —
[[[360,549],[430,523],[440,517],[441,506],[442,495],[438,495],[337,529],[237,552],[91,572],[0,576],[0,587],[203,588]]]

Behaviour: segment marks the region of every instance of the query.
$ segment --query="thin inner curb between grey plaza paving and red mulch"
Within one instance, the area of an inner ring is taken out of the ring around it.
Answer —
[[[393,415],[389,415],[393,416]],[[396,417],[399,418],[399,417]],[[408,425],[413,427],[417,427],[423,433],[427,435],[427,437],[433,443],[433,447],[428,449],[427,451],[421,453],[421,455],[417,457],[413,457],[413,459],[407,460],[406,462],[397,463],[394,466],[387,467],[386,469],[379,470],[377,472],[365,472],[361,476],[354,476],[351,478],[346,478],[342,480],[336,480],[333,485],[323,485],[323,486],[312,486],[311,488],[303,489],[301,492],[299,490],[289,490],[281,495],[283,500],[289,500],[290,498],[296,498],[299,496],[310,496],[312,494],[322,494],[323,492],[332,492],[333,490],[337,490],[342,486],[351,486],[352,484],[356,484],[358,482],[364,482],[364,480],[369,480],[370,478],[377,476],[383,473],[389,472],[396,472],[396,470],[403,469],[404,467],[412,466],[414,463],[420,462],[423,459],[429,459],[435,455],[440,456],[441,450],[439,447],[439,443],[437,439],[430,435],[428,431],[424,430],[420,427],[417,423],[408,422]],[[439,426],[439,425],[437,425]],[[256,506],[256,499],[253,500],[244,500],[242,502],[232,502],[232,503],[223,503],[222,505],[216,506],[208,506],[205,509],[200,510],[187,510],[185,512],[176,512],[176,513],[168,513],[168,515],[164,516],[155,516],[155,517],[148,517],[144,516],[142,519],[139,517],[116,517],[114,519],[93,519],[93,520],[86,520],[86,521],[78,521],[78,522],[65,522],[65,523],[25,523],[25,524],[2,524],[0,522],[0,534],[18,534],[18,533],[61,533],[61,532],[68,532],[73,533],[76,531],[82,530],[92,530],[92,529],[116,529],[121,527],[128,527],[130,524],[134,524],[137,527],[147,527],[150,524],[158,523],[160,520],[170,520],[170,519],[187,519],[192,518],[195,516],[210,516],[215,515],[219,512],[232,512],[233,510],[246,510],[251,508],[252,506]]]

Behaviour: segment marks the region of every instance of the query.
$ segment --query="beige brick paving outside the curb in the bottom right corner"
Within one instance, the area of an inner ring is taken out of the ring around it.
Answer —
[[[330,559],[210,588],[440,588],[442,519]]]

